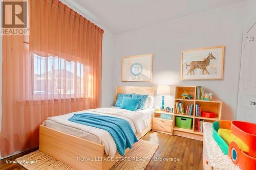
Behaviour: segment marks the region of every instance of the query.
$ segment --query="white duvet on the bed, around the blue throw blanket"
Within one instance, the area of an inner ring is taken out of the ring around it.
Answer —
[[[104,150],[106,155],[114,157],[117,148],[116,143],[109,132],[74,122],[70,122],[68,119],[72,117],[75,113],[94,113],[109,115],[113,117],[118,117],[127,120],[131,127],[133,128],[134,133],[140,134],[145,130],[149,125],[147,122],[147,115],[142,111],[130,111],[125,109],[120,109],[116,107],[110,108],[98,108],[83,110],[79,112],[73,112],[65,115],[49,117],[45,120],[43,125],[53,128],[55,130],[72,134],[90,141],[94,141],[100,144],[104,144]],[[72,129],[72,130],[71,130]],[[75,131],[74,131],[75,129]]]

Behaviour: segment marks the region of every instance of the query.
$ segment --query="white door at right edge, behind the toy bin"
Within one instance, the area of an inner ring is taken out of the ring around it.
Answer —
[[[256,19],[243,37],[237,119],[256,123]],[[234,68],[235,69],[235,68]]]

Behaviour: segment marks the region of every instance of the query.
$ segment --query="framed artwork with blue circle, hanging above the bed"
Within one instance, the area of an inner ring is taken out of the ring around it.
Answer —
[[[122,58],[122,82],[152,81],[153,54]]]

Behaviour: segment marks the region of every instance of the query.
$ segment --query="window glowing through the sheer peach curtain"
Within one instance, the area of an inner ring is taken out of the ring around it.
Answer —
[[[91,76],[89,66],[60,57],[41,57],[33,54],[33,96],[48,98],[90,98]],[[87,87],[84,87],[84,81]]]

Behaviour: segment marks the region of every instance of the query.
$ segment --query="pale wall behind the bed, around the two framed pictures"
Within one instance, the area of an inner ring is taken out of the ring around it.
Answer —
[[[223,101],[223,119],[236,118],[245,3],[224,6],[114,36],[115,86],[202,85]],[[223,80],[180,81],[182,50],[225,45]],[[153,82],[121,82],[121,58],[154,54]],[[158,97],[156,104],[160,105]],[[173,107],[173,96],[166,101]]]

